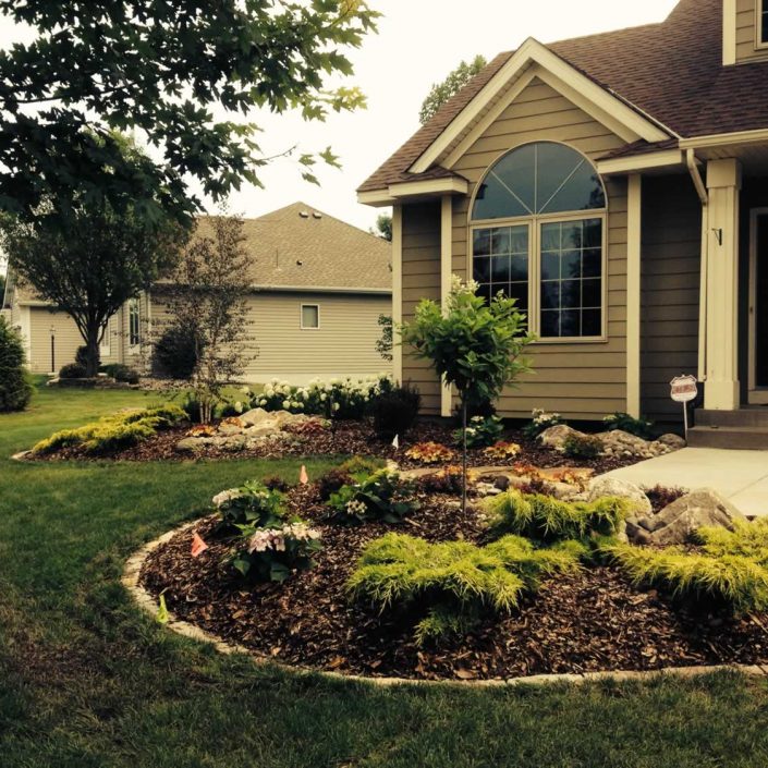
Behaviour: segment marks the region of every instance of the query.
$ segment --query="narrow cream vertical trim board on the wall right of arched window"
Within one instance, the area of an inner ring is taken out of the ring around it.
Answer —
[[[626,221],[626,413],[641,415],[641,244],[643,178],[627,181]]]

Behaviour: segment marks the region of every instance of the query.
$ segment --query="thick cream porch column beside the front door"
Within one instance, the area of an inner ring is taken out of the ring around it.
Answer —
[[[707,163],[708,269],[706,387],[708,411],[739,407],[739,196],[741,162]]]

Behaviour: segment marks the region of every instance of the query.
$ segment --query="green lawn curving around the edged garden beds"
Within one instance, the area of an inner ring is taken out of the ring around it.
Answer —
[[[297,463],[8,460],[53,429],[156,398],[41,391],[0,416],[3,768],[710,768],[768,765],[768,685],[458,690],[329,682],[222,658],[133,607],[142,543],[249,477]],[[316,475],[328,463],[307,462]]]

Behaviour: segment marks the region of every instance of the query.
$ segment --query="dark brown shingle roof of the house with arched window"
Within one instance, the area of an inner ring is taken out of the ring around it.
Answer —
[[[768,61],[722,65],[722,0],[681,0],[659,24],[561,40],[547,47],[651,117],[672,136],[768,127]],[[359,192],[425,178],[407,169],[513,53],[496,57],[373,173]],[[645,150],[656,148],[651,145]],[[642,146],[636,149],[644,151]]]

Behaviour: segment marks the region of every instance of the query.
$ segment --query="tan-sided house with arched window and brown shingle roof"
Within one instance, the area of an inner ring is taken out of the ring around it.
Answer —
[[[674,420],[685,373],[700,420],[760,422],[740,410],[768,403],[767,86],[768,0],[501,53],[358,190],[393,206],[395,321],[474,277],[539,337],[503,415]],[[451,412],[426,364],[395,350],[395,375]]]

